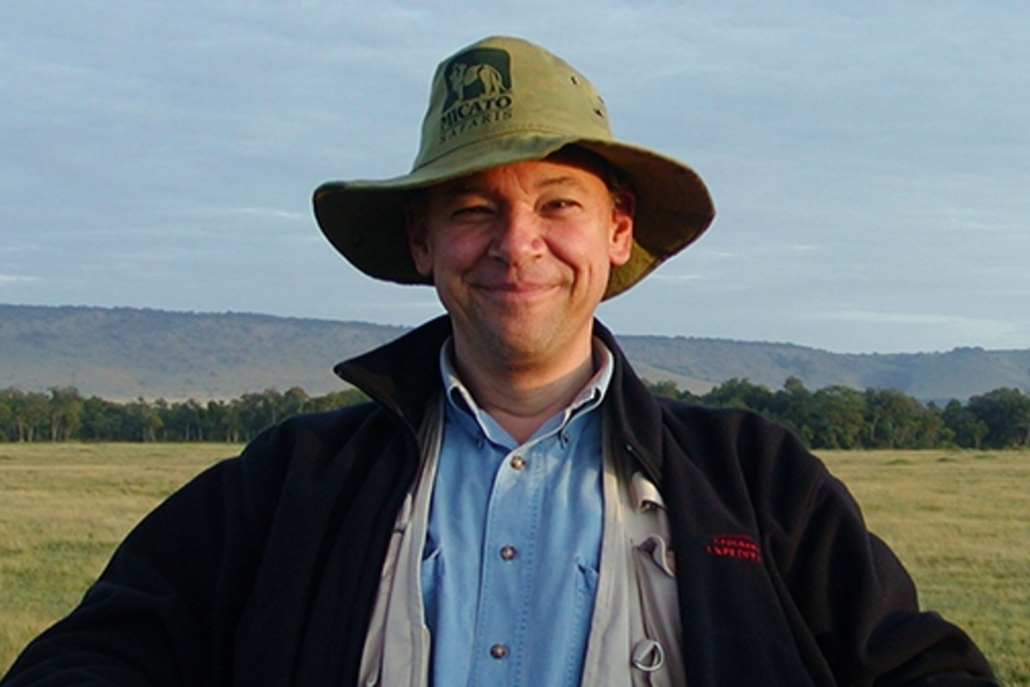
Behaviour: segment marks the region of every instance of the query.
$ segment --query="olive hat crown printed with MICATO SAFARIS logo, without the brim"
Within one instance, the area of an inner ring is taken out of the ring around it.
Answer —
[[[437,67],[413,171],[516,132],[612,140],[605,101],[583,74],[528,41],[485,38]]]

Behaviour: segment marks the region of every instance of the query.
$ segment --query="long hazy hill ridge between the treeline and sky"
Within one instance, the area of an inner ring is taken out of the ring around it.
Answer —
[[[76,386],[111,400],[233,398],[300,386],[344,387],[342,359],[410,328],[245,312],[0,304],[0,388]],[[965,401],[999,387],[1030,390],[1030,349],[835,353],[789,342],[617,335],[638,373],[705,392],[730,378],[779,388],[797,377]]]

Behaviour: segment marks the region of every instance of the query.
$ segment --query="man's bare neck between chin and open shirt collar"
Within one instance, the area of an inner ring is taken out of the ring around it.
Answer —
[[[518,443],[576,398],[594,373],[592,340],[559,365],[489,364],[454,341],[454,366],[479,407]]]

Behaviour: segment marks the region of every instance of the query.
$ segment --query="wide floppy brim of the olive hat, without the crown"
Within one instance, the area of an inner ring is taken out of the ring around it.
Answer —
[[[615,266],[605,298],[626,290],[694,242],[715,217],[700,176],[686,165],[643,147],[570,136],[523,134],[480,140],[384,180],[330,181],[314,193],[314,213],[325,238],[369,276],[402,284],[428,284],[408,250],[405,205],[413,191],[485,169],[543,160],[576,144],[624,172],[636,195],[633,248]]]

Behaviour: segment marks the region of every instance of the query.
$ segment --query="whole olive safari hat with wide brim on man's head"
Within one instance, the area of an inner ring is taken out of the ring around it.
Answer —
[[[708,229],[715,207],[689,167],[612,137],[605,101],[560,58],[518,38],[474,43],[437,67],[411,173],[331,181],[314,193],[318,226],[357,269],[378,279],[430,283],[408,252],[405,204],[413,191],[501,165],[543,160],[566,145],[621,170],[637,203],[629,261],[612,269],[620,294]]]

